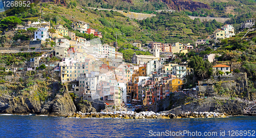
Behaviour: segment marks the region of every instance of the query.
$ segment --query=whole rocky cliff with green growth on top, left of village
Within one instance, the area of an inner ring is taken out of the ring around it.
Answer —
[[[67,116],[79,111],[96,112],[90,102],[73,100],[66,86],[61,86],[58,82],[37,82],[24,90],[14,91],[9,88],[9,92],[0,91],[0,113]],[[100,110],[100,106],[97,108]]]

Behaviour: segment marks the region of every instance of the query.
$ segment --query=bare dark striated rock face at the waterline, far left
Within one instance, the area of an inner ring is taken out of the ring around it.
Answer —
[[[52,101],[41,104],[39,100],[25,96],[0,96],[0,112],[8,114],[42,114],[66,116],[76,112],[76,107],[68,92],[56,95]]]

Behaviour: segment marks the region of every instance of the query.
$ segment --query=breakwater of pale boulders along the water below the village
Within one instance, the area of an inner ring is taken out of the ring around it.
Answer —
[[[176,119],[176,118],[226,118],[226,115],[215,112],[186,112],[179,115],[172,113],[155,113],[155,112],[100,112],[100,113],[82,113],[76,112],[69,114],[66,118],[122,118],[122,119]]]

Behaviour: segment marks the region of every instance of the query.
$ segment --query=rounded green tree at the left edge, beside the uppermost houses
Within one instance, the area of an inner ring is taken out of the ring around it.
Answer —
[[[12,29],[14,26],[20,23],[22,23],[22,20],[15,16],[6,17],[0,21],[2,29]]]

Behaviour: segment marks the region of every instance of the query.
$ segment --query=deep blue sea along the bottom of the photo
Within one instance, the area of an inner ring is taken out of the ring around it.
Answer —
[[[256,117],[78,119],[0,115],[0,137],[255,137],[255,130]]]

